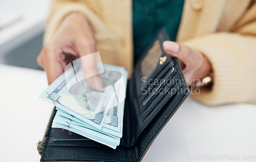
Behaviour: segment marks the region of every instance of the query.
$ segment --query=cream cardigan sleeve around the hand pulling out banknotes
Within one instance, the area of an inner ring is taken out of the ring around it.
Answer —
[[[100,4],[96,0],[51,0],[44,44],[53,37],[61,21],[73,12],[81,13],[91,24],[97,51],[104,54],[101,55],[102,62],[116,64],[115,36],[101,19]]]

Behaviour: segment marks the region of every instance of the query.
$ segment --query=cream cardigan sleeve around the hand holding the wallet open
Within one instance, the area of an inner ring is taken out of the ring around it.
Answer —
[[[202,52],[214,70],[211,87],[192,90],[208,105],[236,102],[256,104],[256,1],[232,32],[213,33],[184,42]]]

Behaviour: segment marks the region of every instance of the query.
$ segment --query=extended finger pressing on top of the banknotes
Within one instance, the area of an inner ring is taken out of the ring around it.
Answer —
[[[77,43],[77,49],[81,57],[82,70],[86,83],[94,90],[102,90],[103,83],[99,78],[97,68],[96,45],[93,40],[84,40]]]

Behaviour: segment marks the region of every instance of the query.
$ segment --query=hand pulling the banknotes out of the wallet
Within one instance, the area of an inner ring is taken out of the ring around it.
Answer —
[[[96,52],[93,30],[87,19],[79,13],[71,13],[61,22],[52,39],[42,48],[37,63],[47,73],[50,85],[61,75],[67,64],[82,56]],[[84,77],[90,77],[86,82],[95,90],[103,88],[102,81],[97,76],[96,57],[82,60]]]

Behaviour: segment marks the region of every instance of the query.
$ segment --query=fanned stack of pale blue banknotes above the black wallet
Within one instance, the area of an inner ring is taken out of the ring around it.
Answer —
[[[103,89],[90,88],[83,78],[81,63],[73,62],[39,97],[56,106],[53,128],[116,149],[122,137],[127,72],[120,66],[97,65]]]

